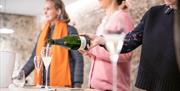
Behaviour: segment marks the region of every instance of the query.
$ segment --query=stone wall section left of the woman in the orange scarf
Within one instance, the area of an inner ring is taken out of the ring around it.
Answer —
[[[0,27],[13,29],[13,34],[0,34],[0,51],[16,53],[15,70],[20,69],[31,55],[37,36],[39,24],[34,16],[0,13]]]

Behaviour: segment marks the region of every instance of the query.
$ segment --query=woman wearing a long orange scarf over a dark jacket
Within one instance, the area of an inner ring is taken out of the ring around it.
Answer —
[[[78,34],[73,26],[68,25],[70,19],[61,0],[46,0],[44,14],[47,22],[40,33],[30,59],[22,68],[26,77],[34,70],[34,57],[40,56],[40,51],[42,47],[47,45],[48,39],[59,39],[67,35]],[[57,45],[52,45],[51,48],[53,49],[53,57],[47,76],[49,86],[81,87],[84,65],[82,55],[78,51],[68,50]],[[43,69],[45,68],[43,67]],[[45,84],[45,71],[41,71],[42,75],[35,73],[35,84]],[[36,78],[37,75],[41,76]]]

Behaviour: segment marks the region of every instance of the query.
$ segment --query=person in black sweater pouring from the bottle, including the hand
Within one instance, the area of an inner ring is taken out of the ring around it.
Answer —
[[[121,53],[142,45],[135,86],[147,91],[180,91],[180,72],[174,47],[176,0],[150,8],[137,27],[125,37]],[[87,34],[92,48],[104,45],[104,38]]]

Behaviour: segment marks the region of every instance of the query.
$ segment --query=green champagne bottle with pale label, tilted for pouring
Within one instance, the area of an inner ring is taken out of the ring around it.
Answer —
[[[49,39],[50,45],[60,45],[71,50],[87,50],[90,39],[86,35],[69,35],[61,39]]]

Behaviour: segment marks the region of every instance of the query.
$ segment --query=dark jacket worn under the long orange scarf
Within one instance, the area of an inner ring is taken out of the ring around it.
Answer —
[[[78,34],[77,30],[68,25],[68,35]],[[36,46],[32,52],[31,57],[28,62],[24,65],[22,70],[25,71],[25,76],[27,77],[34,70],[34,56],[36,55]],[[69,63],[70,63],[70,71],[71,71],[71,82],[72,86],[79,85],[83,83],[83,56],[76,50],[69,50]],[[48,74],[49,75],[49,74]],[[59,78],[61,79],[61,78]],[[45,84],[45,71],[43,71],[43,84]],[[49,82],[49,77],[48,77]]]

